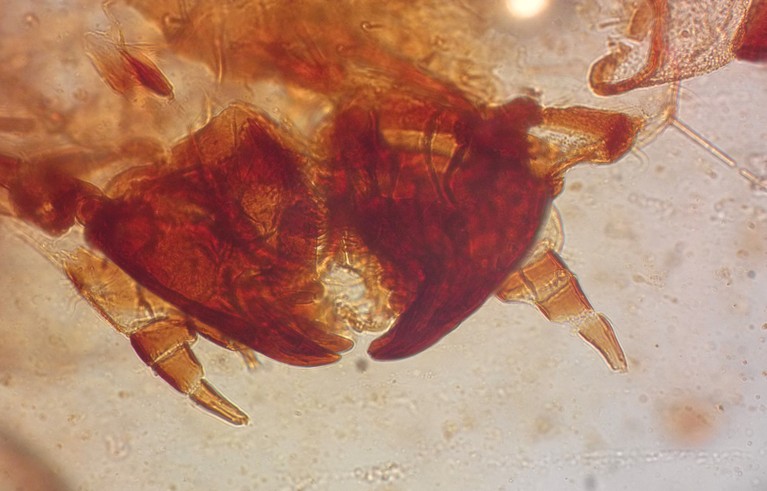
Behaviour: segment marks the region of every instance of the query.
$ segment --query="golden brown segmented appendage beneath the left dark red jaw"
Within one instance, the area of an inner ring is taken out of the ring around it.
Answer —
[[[248,416],[205,380],[192,346],[200,333],[224,348],[240,352],[251,368],[258,364],[253,350],[192,320],[140,287],[113,262],[84,248],[66,256],[63,263],[80,294],[130,339],[141,360],[157,375],[198,406],[229,423],[238,426],[248,423]]]

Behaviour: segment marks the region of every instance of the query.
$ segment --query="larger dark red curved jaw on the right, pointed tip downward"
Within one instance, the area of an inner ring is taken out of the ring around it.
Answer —
[[[423,351],[478,309],[534,242],[552,198],[528,168],[527,131],[541,121],[532,101],[482,113],[405,98],[386,107],[337,117],[329,210],[382,264],[400,312],[370,347],[379,360]],[[428,128],[425,142],[449,135],[452,153],[439,156],[431,143],[393,148],[382,135],[395,119]]]

